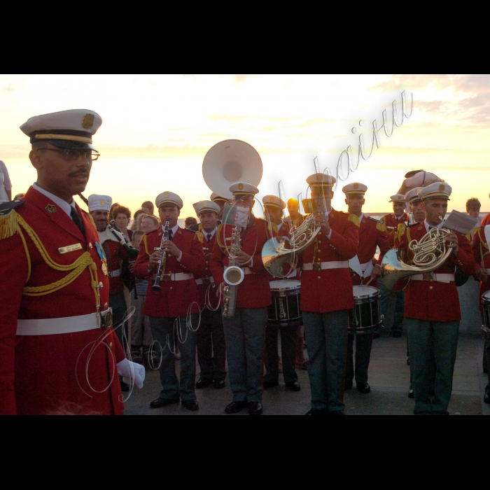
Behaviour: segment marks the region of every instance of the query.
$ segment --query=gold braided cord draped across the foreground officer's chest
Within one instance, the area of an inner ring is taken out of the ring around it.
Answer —
[[[94,261],[92,260],[92,256],[90,255],[89,252],[85,252],[80,257],[78,257],[75,262],[69,265],[61,265],[57,264],[52,258],[50,258],[50,255],[48,254],[48,251],[44,248],[41,240],[39,239],[38,235],[36,232],[25,222],[24,218],[22,216],[18,215],[18,223],[19,225],[24,228],[25,232],[27,235],[29,235],[30,239],[38,249],[39,253],[41,253],[41,257],[43,258],[44,262],[51,267],[52,269],[55,269],[59,272],[68,272],[71,271],[69,274],[64,276],[63,279],[59,279],[59,281],[55,281],[50,284],[46,284],[45,286],[25,286],[24,288],[24,295],[26,296],[43,296],[47,295],[50,293],[55,293],[55,291],[64,288],[64,286],[68,286],[70,283],[72,283],[80,274],[85,270],[85,267],[90,267],[90,276],[92,278],[92,288],[94,289],[95,297],[96,300],[98,298],[97,295],[97,266],[95,265]],[[23,235],[21,235],[22,241],[25,243],[25,239]],[[26,246],[26,245],[25,245]],[[27,249],[27,248],[26,248]],[[30,276],[30,260],[29,260],[29,276]],[[95,274],[95,276],[94,276]]]

